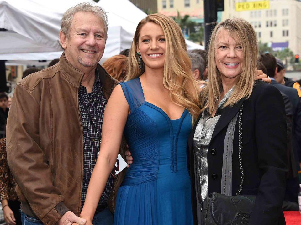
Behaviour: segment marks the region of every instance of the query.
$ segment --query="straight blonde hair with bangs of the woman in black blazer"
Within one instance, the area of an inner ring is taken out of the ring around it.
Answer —
[[[208,85],[201,92],[201,107],[202,111],[209,109],[209,114],[212,115],[216,111],[218,104],[217,99],[220,100],[222,91],[221,74],[217,69],[216,58],[216,42],[220,30],[225,29],[229,35],[236,39],[243,51],[243,66],[241,75],[237,79],[234,92],[231,97],[224,103],[224,107],[233,106],[241,98],[249,98],[255,78],[255,70],[258,58],[258,43],[256,33],[251,26],[244,19],[226,19],[220,22],[214,28],[208,48]]]

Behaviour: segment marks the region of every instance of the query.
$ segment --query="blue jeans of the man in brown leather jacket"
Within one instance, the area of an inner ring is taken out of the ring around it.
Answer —
[[[43,225],[40,220],[24,214],[21,210],[20,212],[22,225]],[[113,218],[113,214],[110,212],[108,207],[106,207],[102,212],[94,215],[92,223],[93,225],[113,225]]]

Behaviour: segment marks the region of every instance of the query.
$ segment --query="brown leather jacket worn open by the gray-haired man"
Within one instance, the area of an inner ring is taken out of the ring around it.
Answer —
[[[106,99],[118,84],[98,64]],[[7,122],[7,158],[25,214],[45,225],[55,224],[71,210],[80,214],[83,135],[78,88],[84,73],[63,53],[56,65],[22,79],[14,90]],[[120,154],[124,154],[124,139]],[[123,171],[124,172],[124,171]],[[108,202],[114,212],[120,173]]]

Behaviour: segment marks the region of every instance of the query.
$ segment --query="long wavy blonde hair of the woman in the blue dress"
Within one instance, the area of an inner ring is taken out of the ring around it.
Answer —
[[[159,25],[166,40],[163,85],[170,91],[172,102],[186,108],[195,120],[200,113],[198,85],[191,75],[191,61],[187,55],[187,46],[181,28],[171,18],[156,13],[148,15],[139,22],[129,51],[126,80],[137,78],[145,72],[143,62],[139,69],[136,50],[140,30],[148,22]]]

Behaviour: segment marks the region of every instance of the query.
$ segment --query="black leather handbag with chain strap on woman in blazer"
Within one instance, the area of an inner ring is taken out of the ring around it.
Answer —
[[[241,115],[239,111],[239,164],[241,170],[241,185],[235,196],[211,193],[205,198],[202,207],[202,225],[248,225],[250,215],[255,205],[255,195],[239,195],[244,183],[244,170],[241,158]]]

